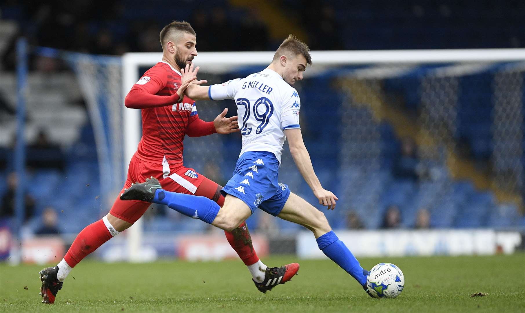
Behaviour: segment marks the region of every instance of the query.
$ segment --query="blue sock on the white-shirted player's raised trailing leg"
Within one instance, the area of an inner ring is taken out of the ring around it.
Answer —
[[[179,213],[198,218],[208,224],[212,224],[220,209],[220,206],[215,201],[209,200],[207,197],[162,189],[155,191],[153,203],[165,204]]]

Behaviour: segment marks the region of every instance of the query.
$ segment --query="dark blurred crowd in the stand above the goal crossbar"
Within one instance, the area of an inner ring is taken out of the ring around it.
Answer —
[[[289,17],[312,50],[510,48],[525,43],[517,27],[523,26],[525,13],[520,2],[281,0],[271,5],[270,12],[262,12],[255,4],[220,0],[4,0],[0,18],[16,20],[19,35],[33,45],[104,55],[160,51],[159,31],[173,19],[192,24],[198,51],[274,50],[282,40],[272,37],[268,27],[282,27],[270,17],[274,14]],[[2,56],[7,69],[15,64],[13,51],[12,43]],[[48,59],[38,66],[56,65]]]

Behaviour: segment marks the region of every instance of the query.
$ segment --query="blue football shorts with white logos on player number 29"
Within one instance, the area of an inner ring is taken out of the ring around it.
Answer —
[[[279,161],[267,151],[247,151],[235,165],[232,179],[220,191],[243,200],[251,210],[257,208],[277,216],[285,206],[290,189],[279,183]]]

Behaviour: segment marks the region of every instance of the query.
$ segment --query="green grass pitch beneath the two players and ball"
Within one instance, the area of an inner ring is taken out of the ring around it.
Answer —
[[[264,259],[270,266],[297,261]],[[38,295],[43,266],[0,265],[1,312],[524,312],[525,255],[362,258],[398,265],[405,289],[372,299],[330,260],[299,260],[290,283],[260,293],[240,260],[79,264],[54,305]],[[27,289],[25,289],[27,287]],[[484,297],[471,297],[486,293]]]

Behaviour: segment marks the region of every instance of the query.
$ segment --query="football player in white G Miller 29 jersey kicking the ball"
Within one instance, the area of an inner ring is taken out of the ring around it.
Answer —
[[[260,208],[310,229],[321,251],[352,275],[368,293],[367,270],[334,234],[324,214],[278,181],[282,145],[288,139],[293,160],[319,204],[333,210],[339,200],[331,191],[323,189],[302,140],[299,126],[301,102],[297,90],[291,86],[302,79],[308,65],[311,65],[308,46],[290,35],[279,46],[266,69],[219,85],[200,86],[206,81],[195,81],[186,89],[186,95],[195,100],[233,99],[238,116],[242,117],[239,128],[243,147],[234,176],[221,190],[226,197],[223,207],[205,197],[165,191],[153,178],[134,184],[121,195],[121,199],[165,204],[226,231],[236,228]],[[198,67],[186,66],[181,72],[185,82],[196,77]],[[258,288],[269,290],[289,278],[276,273],[275,279]]]

